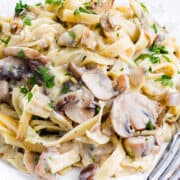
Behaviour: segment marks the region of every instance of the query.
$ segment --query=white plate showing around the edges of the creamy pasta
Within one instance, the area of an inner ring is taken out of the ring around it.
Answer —
[[[14,7],[19,0],[0,0],[0,15],[11,16],[14,13]],[[44,0],[22,0],[28,4],[44,2]],[[116,0],[116,4],[126,3],[127,0]],[[175,36],[180,43],[180,1],[179,0],[143,0],[156,21],[162,26],[166,26],[171,36]],[[61,180],[78,180],[79,172],[73,170],[64,177],[57,179]],[[0,161],[0,179],[1,180],[33,180],[35,177],[26,175],[14,169],[5,162]],[[145,180],[146,175],[139,174],[122,180],[138,179]]]

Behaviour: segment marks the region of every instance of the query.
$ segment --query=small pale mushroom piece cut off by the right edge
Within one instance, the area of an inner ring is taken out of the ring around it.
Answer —
[[[180,92],[171,92],[166,96],[168,106],[180,106]]]

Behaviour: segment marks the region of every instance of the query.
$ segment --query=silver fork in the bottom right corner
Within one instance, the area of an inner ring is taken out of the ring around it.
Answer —
[[[180,179],[180,131],[178,131],[165,149],[165,153],[152,170],[147,180]],[[175,178],[177,176],[177,178]]]

